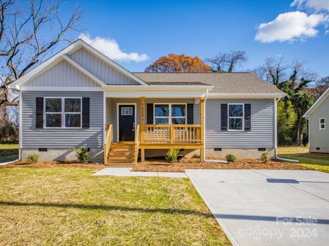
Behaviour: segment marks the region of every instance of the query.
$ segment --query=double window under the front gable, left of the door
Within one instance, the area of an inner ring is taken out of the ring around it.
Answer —
[[[45,128],[80,128],[81,98],[45,98]]]

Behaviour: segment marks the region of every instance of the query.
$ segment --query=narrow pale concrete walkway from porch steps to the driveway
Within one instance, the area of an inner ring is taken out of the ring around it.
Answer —
[[[180,172],[132,172],[132,168],[125,167],[109,167],[102,169],[93,175],[187,178],[186,174]]]

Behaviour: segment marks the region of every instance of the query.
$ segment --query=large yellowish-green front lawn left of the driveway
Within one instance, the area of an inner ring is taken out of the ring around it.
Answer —
[[[1,245],[230,245],[187,178],[0,168]]]

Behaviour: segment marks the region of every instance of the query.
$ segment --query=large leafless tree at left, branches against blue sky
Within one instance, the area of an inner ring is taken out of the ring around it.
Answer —
[[[69,31],[77,31],[82,10],[61,16],[61,1],[30,0],[22,10],[14,0],[0,0],[0,107],[18,105],[8,85],[49,57],[56,45],[71,42]]]

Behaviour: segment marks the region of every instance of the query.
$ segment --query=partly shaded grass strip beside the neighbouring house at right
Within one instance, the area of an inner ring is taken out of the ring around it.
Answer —
[[[329,154],[308,153],[308,149],[302,147],[279,147],[278,155],[300,161],[297,165],[329,173]]]

